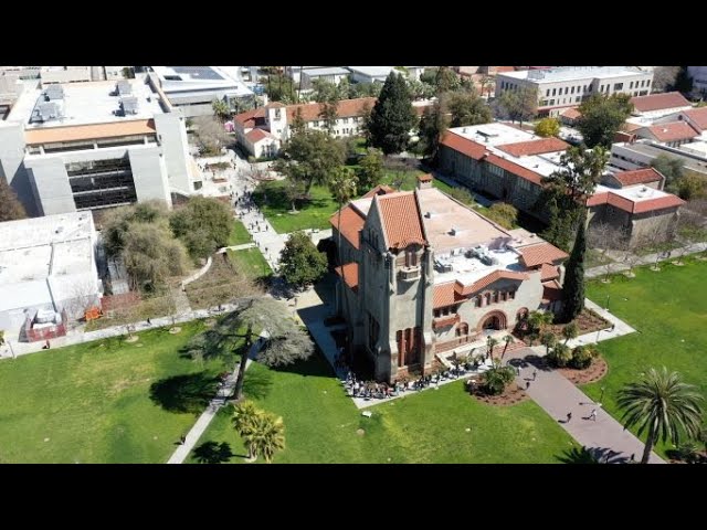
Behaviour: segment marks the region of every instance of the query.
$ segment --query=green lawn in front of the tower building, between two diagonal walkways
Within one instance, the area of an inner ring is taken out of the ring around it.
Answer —
[[[250,396],[285,422],[287,448],[276,463],[557,463],[572,447],[570,436],[535,403],[483,404],[461,381],[383,402],[367,418],[319,356],[292,371],[253,364],[246,384],[249,379]],[[242,463],[245,452],[230,416],[231,410],[223,410],[199,444],[225,442],[235,454],[230,462]],[[366,434],[358,435],[358,428]]]

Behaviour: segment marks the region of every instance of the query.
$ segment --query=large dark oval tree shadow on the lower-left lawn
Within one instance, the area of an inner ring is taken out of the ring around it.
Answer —
[[[207,372],[173,375],[150,385],[150,400],[168,412],[199,414],[215,395],[218,382]]]

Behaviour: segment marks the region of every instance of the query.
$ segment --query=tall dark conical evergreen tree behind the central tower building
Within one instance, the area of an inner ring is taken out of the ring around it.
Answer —
[[[371,110],[368,124],[371,145],[386,155],[404,151],[415,120],[405,80],[391,72]]]

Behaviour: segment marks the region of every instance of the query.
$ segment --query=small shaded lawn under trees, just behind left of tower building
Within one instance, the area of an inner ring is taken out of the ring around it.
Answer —
[[[297,213],[292,213],[292,203],[285,193],[285,181],[262,182],[253,192],[253,200],[278,234],[305,229],[330,229],[329,218],[336,211],[336,202],[326,187],[313,186],[310,200],[297,203]]]

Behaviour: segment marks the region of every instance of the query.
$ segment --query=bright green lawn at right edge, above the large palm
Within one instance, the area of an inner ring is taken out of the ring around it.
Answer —
[[[662,263],[659,272],[641,267],[635,278],[615,275],[611,284],[588,285],[589,298],[604,306],[609,296],[609,310],[640,331],[600,342],[609,373],[583,386],[595,400],[605,386],[603,403],[614,417],[621,416],[615,401],[619,389],[650,367],[678,371],[707,398],[707,262],[685,262],[682,267]],[[657,449],[665,456],[665,446]]]

